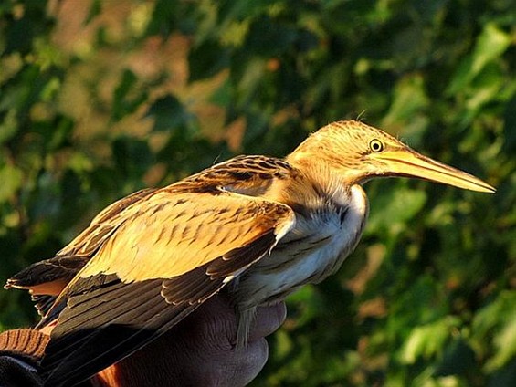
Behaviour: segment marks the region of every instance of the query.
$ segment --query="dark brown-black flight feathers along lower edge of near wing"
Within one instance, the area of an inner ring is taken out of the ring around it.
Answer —
[[[130,284],[113,275],[81,278],[68,295],[68,307],[59,315],[47,346],[41,364],[45,385],[82,382],[139,350],[216,294],[232,273],[267,254],[275,243],[274,232],[269,230],[247,246],[178,277]]]

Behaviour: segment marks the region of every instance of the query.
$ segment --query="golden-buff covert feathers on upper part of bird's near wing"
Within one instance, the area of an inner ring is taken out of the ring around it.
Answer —
[[[285,204],[237,193],[156,193],[79,273],[116,274],[123,282],[180,276],[292,222]],[[152,254],[150,254],[152,252]]]

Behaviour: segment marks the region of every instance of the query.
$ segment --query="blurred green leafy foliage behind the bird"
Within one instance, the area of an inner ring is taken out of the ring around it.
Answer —
[[[496,194],[368,183],[255,386],[516,385],[516,3],[4,0],[0,282],[104,206],[360,118]],[[0,291],[0,330],[37,321]]]

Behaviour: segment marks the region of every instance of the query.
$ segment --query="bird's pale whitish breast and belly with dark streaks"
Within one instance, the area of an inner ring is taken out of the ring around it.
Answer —
[[[242,309],[274,303],[308,283],[319,283],[341,267],[353,251],[367,217],[360,186],[348,196],[314,211],[296,214],[296,225],[270,253],[240,278]]]

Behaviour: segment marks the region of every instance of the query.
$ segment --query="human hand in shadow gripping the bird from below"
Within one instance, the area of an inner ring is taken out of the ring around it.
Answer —
[[[95,382],[110,387],[244,386],[265,365],[265,337],[279,329],[286,314],[284,303],[258,308],[247,346],[237,349],[235,310],[225,296],[216,295],[159,339],[101,371]]]

